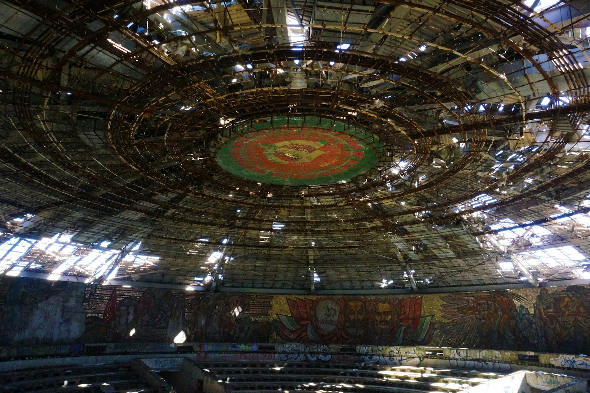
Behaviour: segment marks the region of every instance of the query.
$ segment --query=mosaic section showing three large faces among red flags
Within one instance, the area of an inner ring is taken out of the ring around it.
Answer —
[[[422,316],[422,299],[412,297],[287,298],[291,315],[277,314],[286,341],[325,344],[422,344],[434,332]]]

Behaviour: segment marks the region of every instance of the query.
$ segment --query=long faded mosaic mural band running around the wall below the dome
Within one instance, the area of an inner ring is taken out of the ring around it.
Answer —
[[[184,332],[188,342],[590,352],[590,288],[581,285],[412,296],[100,287],[96,309],[83,284],[3,278],[0,344],[172,342]]]

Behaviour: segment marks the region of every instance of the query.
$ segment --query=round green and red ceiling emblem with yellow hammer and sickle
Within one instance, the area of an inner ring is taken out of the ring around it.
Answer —
[[[382,149],[376,136],[340,121],[277,116],[235,127],[212,150],[235,176],[300,186],[349,181],[373,169]]]

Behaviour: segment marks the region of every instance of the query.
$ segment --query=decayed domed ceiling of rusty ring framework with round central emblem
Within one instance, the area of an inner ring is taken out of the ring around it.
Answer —
[[[584,0],[0,15],[6,274],[294,293],[590,279]]]

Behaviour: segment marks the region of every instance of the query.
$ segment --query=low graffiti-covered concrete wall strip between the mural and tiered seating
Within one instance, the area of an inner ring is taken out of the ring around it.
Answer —
[[[67,354],[76,354],[67,356]],[[480,370],[507,374],[522,369],[588,377],[590,369],[553,366],[551,354],[537,354],[524,362],[527,352],[461,348],[370,345],[235,344],[210,343],[175,346],[153,343],[60,345],[0,348],[0,369],[17,370],[57,365],[102,364],[142,359],[155,371],[181,370],[184,358],[195,362],[335,362],[384,366]],[[530,355],[527,355],[530,356]],[[533,361],[535,360],[535,361]]]

